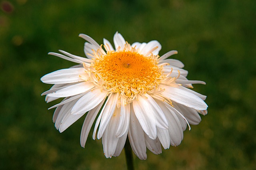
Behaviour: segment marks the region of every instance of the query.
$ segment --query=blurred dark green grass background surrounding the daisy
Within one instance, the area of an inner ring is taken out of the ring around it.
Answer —
[[[158,40],[160,55],[176,49],[194,90],[207,95],[208,115],[184,132],[177,147],[139,160],[135,168],[253,170],[256,167],[256,2],[254,0],[10,0],[0,1],[0,169],[125,169],[124,151],[106,159],[84,117],[60,134],[52,123],[58,103],[40,94],[40,77],[74,63],[47,55],[63,49],[84,56],[88,34],[112,42]],[[6,3],[10,3],[6,7]]]

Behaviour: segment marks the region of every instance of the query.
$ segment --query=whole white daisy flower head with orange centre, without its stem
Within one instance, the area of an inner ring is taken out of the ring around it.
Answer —
[[[47,103],[64,98],[49,108],[56,108],[53,122],[60,132],[87,113],[82,147],[96,121],[92,138],[102,138],[106,158],[118,156],[128,137],[133,152],[145,160],[146,148],[160,154],[162,147],[179,145],[186,127],[200,123],[199,114],[207,114],[206,96],[189,89],[205,83],[188,80],[184,64],[167,59],[177,51],[159,56],[158,41],[130,45],[118,32],[114,47],[106,39],[99,45],[85,34],[79,37],[87,41],[87,58],[50,52],[78,65],[46,74],[41,81],[54,84],[42,93]]]

